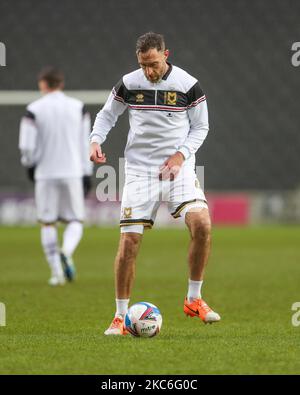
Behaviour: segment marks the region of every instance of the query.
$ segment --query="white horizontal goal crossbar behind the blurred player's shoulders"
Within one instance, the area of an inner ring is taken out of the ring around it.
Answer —
[[[99,91],[64,91],[66,95],[75,97],[84,102],[84,104],[102,105],[106,102],[109,90]],[[26,105],[41,97],[38,91],[1,91],[0,106],[20,106]]]

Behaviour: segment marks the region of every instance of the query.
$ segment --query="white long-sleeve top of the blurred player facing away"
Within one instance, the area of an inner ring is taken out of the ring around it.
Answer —
[[[91,175],[90,132],[90,114],[80,100],[47,93],[27,106],[21,120],[21,163],[35,166],[36,180]]]

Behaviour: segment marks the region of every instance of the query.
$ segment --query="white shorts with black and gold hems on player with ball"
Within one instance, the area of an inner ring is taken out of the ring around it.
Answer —
[[[182,168],[174,181],[160,181],[157,176],[127,174],[121,205],[121,232],[132,232],[138,229],[137,225],[139,229],[151,228],[162,202],[167,203],[174,218],[184,216],[192,207],[208,208],[193,168]]]

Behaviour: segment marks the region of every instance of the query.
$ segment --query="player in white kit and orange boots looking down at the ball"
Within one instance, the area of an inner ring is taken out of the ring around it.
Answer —
[[[136,54],[140,69],[126,74],[113,88],[91,134],[91,160],[105,163],[101,144],[118,117],[129,110],[121,237],[115,260],[116,314],[106,335],[126,334],[124,316],[143,231],[152,227],[160,195],[167,194],[168,189],[170,213],[185,219],[191,235],[184,312],[205,323],[220,320],[201,297],[211,225],[194,168],[195,152],[208,133],[206,98],[196,78],[167,62],[169,51],[162,35],[150,32],[141,36]],[[150,192],[151,198],[133,202],[138,190],[145,196]]]

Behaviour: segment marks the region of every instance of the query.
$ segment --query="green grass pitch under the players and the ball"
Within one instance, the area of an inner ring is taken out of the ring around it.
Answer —
[[[298,374],[299,228],[215,228],[205,300],[214,325],[182,311],[187,286],[185,230],[145,234],[131,302],[161,309],[152,339],[105,337],[114,312],[117,229],[89,228],[75,260],[78,280],[47,285],[39,229],[0,228],[3,374]]]

